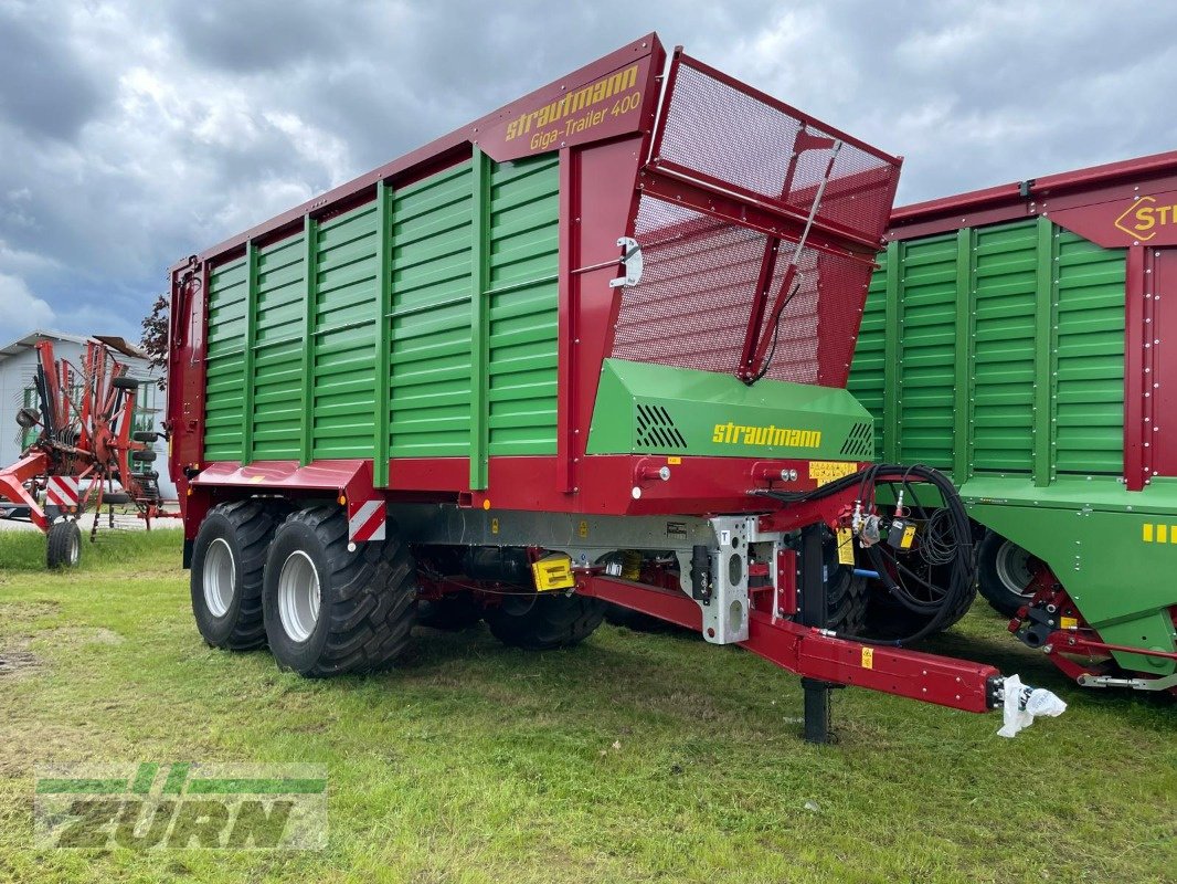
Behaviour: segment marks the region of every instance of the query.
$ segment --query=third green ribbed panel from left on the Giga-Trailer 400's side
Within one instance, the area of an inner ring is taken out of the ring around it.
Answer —
[[[319,225],[312,455],[371,457],[375,401],[375,205]]]

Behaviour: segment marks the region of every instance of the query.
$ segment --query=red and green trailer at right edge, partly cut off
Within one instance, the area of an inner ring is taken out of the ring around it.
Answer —
[[[896,210],[850,390],[952,477],[980,592],[1091,687],[1177,692],[1177,152]]]

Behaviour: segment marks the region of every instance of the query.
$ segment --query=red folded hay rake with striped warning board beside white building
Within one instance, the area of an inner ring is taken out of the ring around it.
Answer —
[[[152,468],[160,434],[134,428],[140,381],[127,375],[127,365],[97,342],[86,345],[80,367],[55,358],[48,341],[36,350],[39,408],[20,409],[16,422],[40,433],[16,463],[0,469],[0,497],[28,508],[29,521],[46,535],[48,567],[73,567],[81,556],[82,514],[94,513],[92,541],[104,504],[111,527],[118,504],[134,507],[148,529],[153,519],[179,514],[162,509]]]

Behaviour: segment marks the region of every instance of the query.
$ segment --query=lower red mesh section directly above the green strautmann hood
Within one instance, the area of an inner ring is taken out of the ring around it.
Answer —
[[[634,232],[645,266],[621,292],[612,355],[736,372],[769,238],[650,196]],[[783,243],[770,303],[791,256]],[[845,385],[869,281],[870,266],[805,249],[765,376]]]

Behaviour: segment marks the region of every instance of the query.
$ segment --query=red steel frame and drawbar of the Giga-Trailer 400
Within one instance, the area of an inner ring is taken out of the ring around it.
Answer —
[[[204,460],[205,329],[208,279],[214,265],[240,255],[248,242],[272,242],[301,230],[307,216],[321,219],[370,202],[380,182],[403,186],[460,161],[471,156],[476,143],[494,159],[521,156],[512,153],[516,149],[501,140],[507,120],[552,100],[566,88],[609,75],[634,60],[641,66],[643,100],[627,127],[594,136],[592,141],[563,144],[558,149],[560,258],[556,456],[492,457],[485,490],[470,487],[470,467],[465,457],[391,459],[388,488],[381,490],[373,488],[371,461],[310,464],[266,461],[240,466]],[[676,51],[676,60],[705,67],[685,59],[681,50]],[[791,490],[812,489],[814,482],[806,477],[805,461],[683,457],[681,463],[674,464],[671,481],[644,486],[645,493],[634,500],[630,489],[649,470],[651,461],[661,466],[666,459],[586,456],[600,365],[612,350],[620,304],[617,290],[609,286],[609,281],[618,275],[616,243],[619,235],[632,233],[641,193],[686,204],[778,239],[796,239],[806,222],[796,210],[691,170],[674,167],[656,156],[657,149],[651,151],[664,65],[661,44],[656,34],[649,34],[471,126],[174,265],[171,269],[173,310],[166,427],[172,434],[172,475],[185,510],[186,537],[195,536],[204,515],[218,497],[259,492],[292,497],[338,495],[348,507],[350,515],[358,502],[378,495],[388,501],[613,515],[771,510],[763,517],[766,530],[791,530],[817,521],[836,525],[849,512],[846,495],[822,504],[780,509],[779,503],[749,494],[749,489],[766,487],[766,477],[770,474],[779,476],[782,469],[796,469],[803,476],[791,483]],[[677,67],[672,66],[671,71],[674,70]],[[706,70],[773,107],[807,119],[769,95],[749,90],[712,68]],[[824,124],[820,127],[865,147]],[[878,154],[873,149],[866,150]],[[645,164],[651,156],[653,159]],[[887,159],[898,164],[895,158]],[[807,244],[863,262],[871,262],[879,245],[820,217],[814,222]],[[736,368],[732,367],[733,371]],[[580,573],[578,591],[684,626],[698,628],[701,622],[698,605],[681,594],[587,572]],[[763,609],[753,612],[749,639],[742,644],[792,672],[816,679],[863,685],[976,712],[993,706],[991,681],[999,675],[990,666],[896,648],[879,647],[866,653],[863,645],[802,627]],[[867,664],[870,658],[872,665]]]

